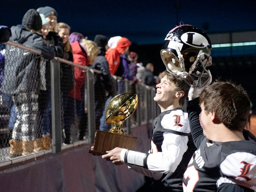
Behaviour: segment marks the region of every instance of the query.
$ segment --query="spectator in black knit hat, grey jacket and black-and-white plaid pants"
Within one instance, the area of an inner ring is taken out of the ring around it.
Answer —
[[[52,60],[54,47],[47,46],[42,35],[36,31],[42,28],[39,13],[30,9],[22,19],[22,25],[12,26],[10,41],[41,51],[42,57]],[[5,76],[1,90],[11,94],[14,101],[17,120],[13,128],[9,157],[14,158],[34,150],[34,140],[41,130],[38,108],[40,57],[23,50],[6,46]],[[20,54],[20,55],[19,55]]]

